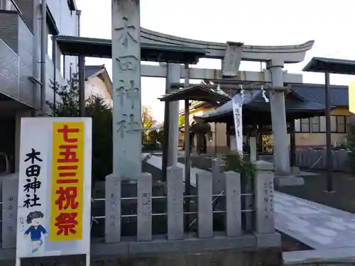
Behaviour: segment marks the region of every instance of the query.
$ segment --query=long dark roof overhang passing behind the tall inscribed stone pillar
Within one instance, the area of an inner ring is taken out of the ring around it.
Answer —
[[[60,35],[57,43],[63,55],[111,58],[111,40]],[[141,60],[177,64],[197,64],[207,51],[185,45],[141,43]]]

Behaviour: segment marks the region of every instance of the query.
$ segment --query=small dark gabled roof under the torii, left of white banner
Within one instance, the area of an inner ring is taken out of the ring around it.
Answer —
[[[192,87],[178,89],[175,92],[166,94],[160,98],[160,101],[204,101],[207,103],[226,103],[230,100],[229,96],[215,92],[213,89],[204,87],[200,84]]]

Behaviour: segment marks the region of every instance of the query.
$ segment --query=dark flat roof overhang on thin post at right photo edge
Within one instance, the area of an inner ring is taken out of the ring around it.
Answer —
[[[313,57],[303,68],[305,72],[322,72],[332,74],[355,74],[355,61],[325,57]]]

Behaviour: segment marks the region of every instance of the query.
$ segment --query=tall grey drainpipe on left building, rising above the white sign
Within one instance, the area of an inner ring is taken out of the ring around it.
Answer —
[[[40,114],[45,115],[45,56],[47,54],[47,0],[42,0],[40,6]]]

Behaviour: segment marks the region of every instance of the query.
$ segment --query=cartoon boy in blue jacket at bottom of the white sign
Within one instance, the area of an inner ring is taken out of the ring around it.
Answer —
[[[35,253],[40,248],[40,245],[43,244],[42,234],[48,235],[45,228],[40,225],[43,217],[44,215],[41,211],[31,211],[26,218],[26,222],[31,226],[26,230],[24,235],[25,237],[28,237],[28,235],[31,236],[32,253]]]

